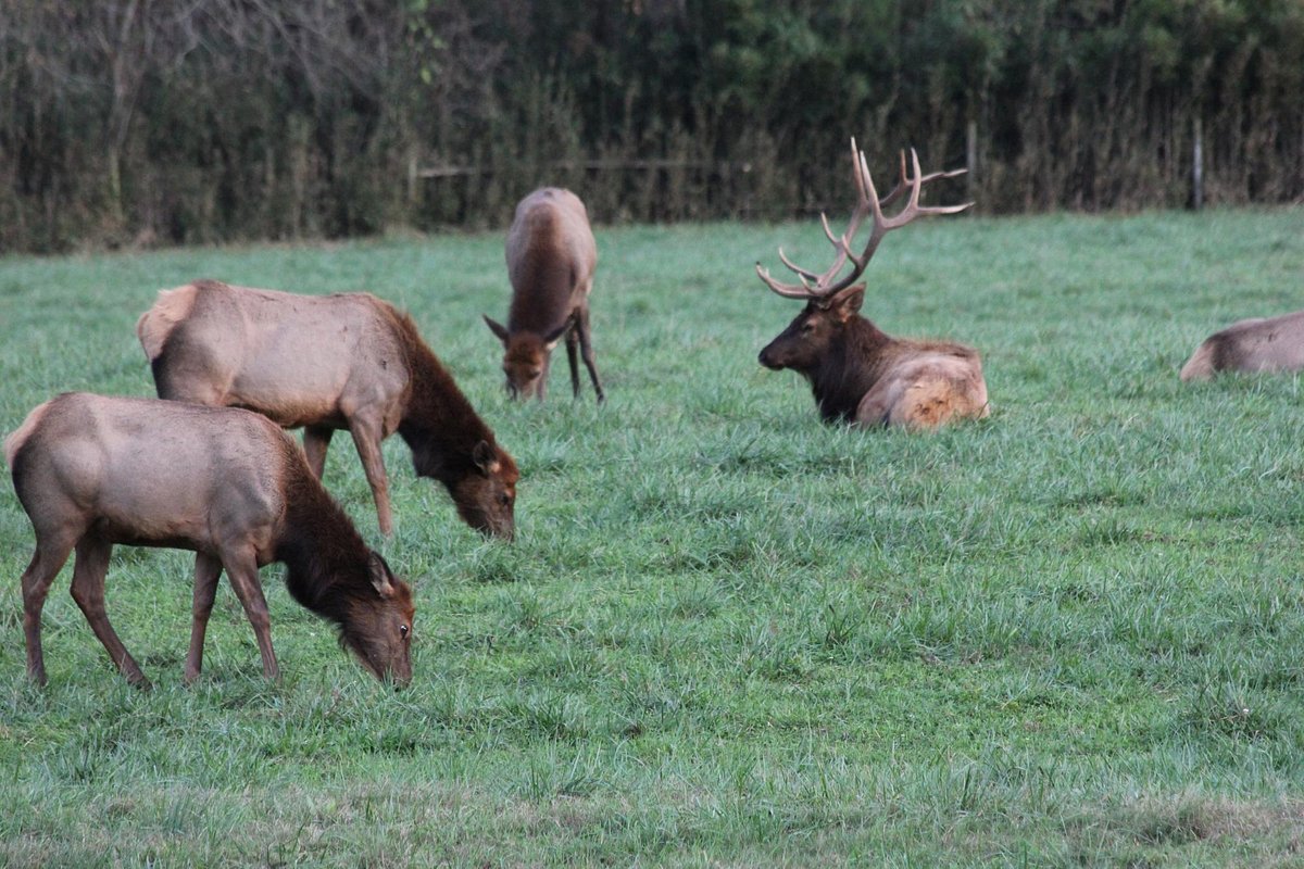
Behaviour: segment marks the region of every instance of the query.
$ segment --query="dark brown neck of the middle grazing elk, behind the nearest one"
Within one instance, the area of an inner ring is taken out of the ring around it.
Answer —
[[[412,321],[404,315],[402,326],[411,384],[398,433],[412,449],[417,476],[451,486],[475,468],[476,444],[492,444],[494,436]]]

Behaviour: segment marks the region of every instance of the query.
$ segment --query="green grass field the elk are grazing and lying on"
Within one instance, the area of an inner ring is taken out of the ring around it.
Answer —
[[[480,313],[502,236],[0,259],[0,430],[56,392],[153,395],[134,322],[209,276],[412,311],[523,478],[482,539],[386,443],[327,487],[417,589],[393,692],[263,571],[284,679],[223,582],[181,684],[185,552],[119,547],[23,670],[31,530],[0,490],[0,865],[1304,865],[1304,395],[1188,387],[1210,332],[1304,307],[1304,211],[935,219],[865,313],[983,352],[990,420],[819,422],[756,363],[756,280],[815,224],[599,229],[608,403],[511,404]]]

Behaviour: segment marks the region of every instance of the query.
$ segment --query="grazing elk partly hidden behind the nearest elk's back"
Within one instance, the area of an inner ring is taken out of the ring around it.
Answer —
[[[516,463],[412,323],[370,293],[299,296],[201,280],[162,291],[136,324],[160,399],[257,410],[304,427],[321,478],[336,429],[348,429],[393,528],[381,442],[394,431],[420,477],[449,490],[462,519],[510,539]]]

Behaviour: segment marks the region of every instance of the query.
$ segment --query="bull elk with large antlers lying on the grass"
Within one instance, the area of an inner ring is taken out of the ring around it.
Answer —
[[[760,352],[760,363],[802,374],[815,392],[815,403],[825,422],[841,420],[866,427],[900,425],[936,429],[952,418],[986,417],[988,413],[987,384],[977,350],[951,341],[892,337],[858,314],[865,284],[853,285],[852,281],[865,271],[883,236],[921,215],[955,214],[971,205],[921,206],[919,190],[926,182],[953,177],[962,169],[922,176],[919,158],[913,149],[910,159],[914,177],[906,176],[902,154],[901,181],[880,202],[865,154],[852,139],[853,172],[859,194],[855,211],[840,238],[833,236],[828,219],[822,215],[824,235],[837,248],[833,264],[816,275],[794,266],[780,250],[780,259],[797,272],[801,281],[782,284],[756,263],[756,274],[772,291],[786,298],[806,300],[806,309]],[[883,206],[906,190],[909,199],[905,207],[885,218]],[[850,245],[866,215],[872,215],[874,228],[865,249],[857,255]],[[848,259],[853,270],[838,278]]]

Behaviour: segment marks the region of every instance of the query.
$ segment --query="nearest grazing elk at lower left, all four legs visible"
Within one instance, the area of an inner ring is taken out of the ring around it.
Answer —
[[[299,447],[265,417],[67,392],[27,414],[4,453],[37,534],[22,575],[27,675],[37,683],[46,683],[40,610],[76,550],[73,599],[128,681],[149,688],[104,612],[115,543],[194,550],[186,681],[200,675],[223,569],[258,638],[263,674],[279,676],[258,584],[270,562],[286,564],[293,598],[334,621],[340,645],[373,675],[411,680],[411,589],[366,548]]]

